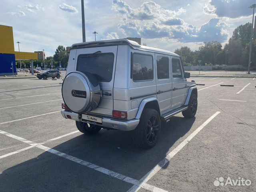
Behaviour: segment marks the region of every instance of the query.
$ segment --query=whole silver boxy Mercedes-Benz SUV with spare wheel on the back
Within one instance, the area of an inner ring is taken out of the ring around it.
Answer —
[[[127,40],[73,44],[62,83],[61,114],[84,134],[132,131],[142,148],[156,144],[161,122],[197,110],[197,88],[180,56]]]

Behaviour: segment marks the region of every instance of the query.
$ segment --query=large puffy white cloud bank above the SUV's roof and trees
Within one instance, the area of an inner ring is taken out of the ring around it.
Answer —
[[[153,6],[153,7],[152,7]],[[185,12],[167,10],[155,2],[144,2],[139,8],[131,8],[123,0],[113,0],[113,9],[122,19],[118,28],[123,34],[148,39],[170,38],[180,42],[204,42],[227,40],[224,23],[212,18],[200,28],[186,23],[178,16]]]

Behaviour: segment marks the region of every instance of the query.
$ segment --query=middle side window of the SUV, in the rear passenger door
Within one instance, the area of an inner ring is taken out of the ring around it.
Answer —
[[[157,78],[168,79],[169,78],[169,58],[157,56],[156,66],[157,66]]]

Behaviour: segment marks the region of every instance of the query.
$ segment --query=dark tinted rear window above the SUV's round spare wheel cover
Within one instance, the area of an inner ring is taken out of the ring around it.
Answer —
[[[113,53],[82,54],[78,56],[76,70],[84,74],[93,74],[98,81],[110,82],[113,65]]]

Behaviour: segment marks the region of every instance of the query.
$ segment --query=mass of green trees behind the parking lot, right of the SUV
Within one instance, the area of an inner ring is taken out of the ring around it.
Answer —
[[[202,60],[201,65],[242,65],[248,66],[250,35],[252,23],[238,26],[228,44],[222,48],[222,44],[217,41],[204,42],[199,50],[191,51],[187,46],[182,46],[175,50],[181,56],[185,66],[199,65],[198,60]],[[256,69],[256,40],[252,44],[252,69]],[[214,70],[221,70],[221,67],[214,67]]]

